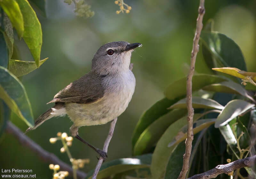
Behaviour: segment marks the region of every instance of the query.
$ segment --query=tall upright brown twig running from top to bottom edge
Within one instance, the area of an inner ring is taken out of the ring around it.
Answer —
[[[189,167],[189,158],[191,155],[192,149],[192,141],[193,141],[193,116],[194,116],[194,109],[192,107],[192,77],[195,71],[195,63],[196,63],[196,55],[199,51],[199,37],[201,34],[201,30],[203,28],[203,17],[204,17],[204,0],[200,0],[200,5],[198,8],[198,17],[196,19],[196,33],[193,39],[193,49],[191,52],[190,58],[190,69],[187,77],[187,108],[188,108],[188,138],[186,139],[186,150],[185,154],[183,155],[183,165],[182,170],[178,179],[184,179],[188,172]]]

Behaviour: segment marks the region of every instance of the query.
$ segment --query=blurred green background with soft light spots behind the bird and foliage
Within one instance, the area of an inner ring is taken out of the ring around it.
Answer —
[[[196,26],[199,1],[191,0],[124,0],[132,6],[129,14],[116,14],[119,6],[114,0],[86,0],[95,15],[78,18],[74,4],[63,0],[46,0],[45,18],[37,16],[42,25],[41,59],[49,59],[39,69],[22,77],[35,118],[52,104],[53,96],[70,82],[89,72],[91,60],[98,48],[111,41],[142,43],[132,54],[136,88],[127,110],[118,118],[114,136],[108,148],[108,161],[131,156],[131,138],[140,115],[164,97],[164,88],[187,74]],[[232,38],[243,51],[248,71],[256,69],[256,1],[206,1],[204,24],[214,19],[214,30]],[[15,43],[22,60],[33,60],[24,43],[16,36]],[[200,49],[201,50],[201,49]],[[196,73],[212,73],[204,63],[202,51],[196,59]],[[12,122],[22,131],[26,124],[12,115]],[[69,133],[72,122],[68,117],[46,121],[27,135],[45,150],[69,163],[66,153],[60,153],[61,142],[50,144],[57,132]],[[108,134],[109,123],[81,127],[79,135],[98,148]],[[82,169],[88,172],[97,163],[96,153],[74,139],[71,154],[74,158],[90,159]],[[4,134],[0,140],[0,168],[32,169],[39,178],[52,177],[49,163],[45,163],[21,146],[16,138]]]

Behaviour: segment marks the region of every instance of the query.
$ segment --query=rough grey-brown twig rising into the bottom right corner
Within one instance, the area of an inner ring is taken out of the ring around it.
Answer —
[[[256,155],[247,157],[245,159],[239,159],[225,165],[218,165],[211,170],[189,177],[188,179],[210,179],[216,178],[220,174],[228,174],[238,168],[252,167],[256,162]]]

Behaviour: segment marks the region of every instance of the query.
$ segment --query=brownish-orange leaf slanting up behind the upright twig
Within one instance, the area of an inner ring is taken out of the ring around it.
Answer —
[[[214,122],[216,119],[201,119],[199,121],[194,122],[193,124],[193,134],[196,134],[200,132],[201,130],[208,128]],[[181,141],[185,140],[187,138],[187,131],[188,131],[188,125],[185,125],[181,128],[178,135],[175,136],[175,138],[168,144],[168,147],[171,147],[172,145],[177,145]]]

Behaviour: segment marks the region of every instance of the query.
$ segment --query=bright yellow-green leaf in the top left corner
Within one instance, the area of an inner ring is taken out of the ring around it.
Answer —
[[[15,0],[1,0],[0,6],[10,18],[18,36],[21,38],[24,32],[24,23],[19,4]]]

